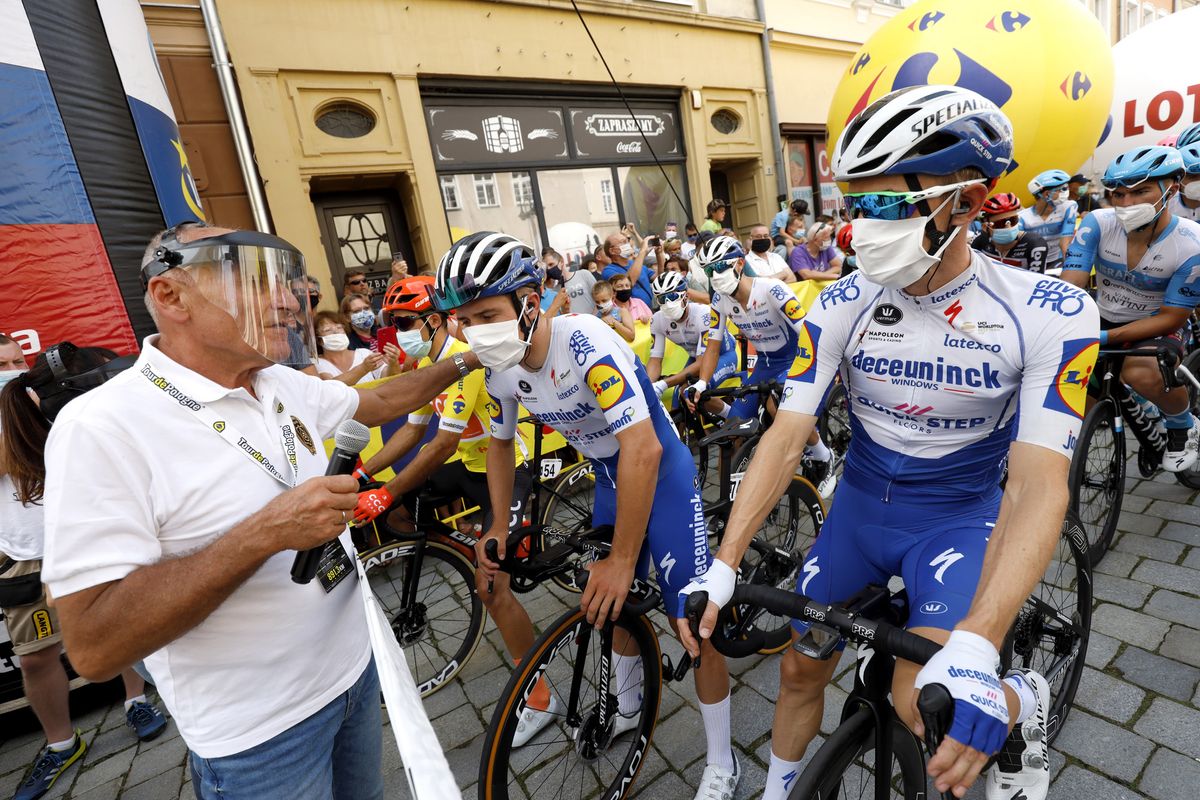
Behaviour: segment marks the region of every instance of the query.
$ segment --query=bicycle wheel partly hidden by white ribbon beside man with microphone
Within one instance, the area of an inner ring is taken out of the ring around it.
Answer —
[[[420,575],[414,575],[424,545]],[[484,634],[484,603],[475,594],[475,567],[451,545],[390,542],[359,555],[371,590],[413,669],[421,697],[445,686],[470,658]],[[416,581],[415,603],[403,603]]]

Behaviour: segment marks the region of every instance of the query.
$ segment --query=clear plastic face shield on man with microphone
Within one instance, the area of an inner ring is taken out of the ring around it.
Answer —
[[[287,241],[238,230],[180,242],[168,233],[142,270],[143,284],[170,269],[187,272],[266,360],[298,368],[316,363],[308,275],[304,255]]]

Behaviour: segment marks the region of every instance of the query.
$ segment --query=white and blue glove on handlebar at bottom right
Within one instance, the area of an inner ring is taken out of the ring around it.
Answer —
[[[917,690],[941,684],[954,698],[949,735],[984,756],[998,751],[1008,736],[1008,703],[997,674],[1000,654],[991,642],[970,631],[954,631],[936,656],[917,673]]]

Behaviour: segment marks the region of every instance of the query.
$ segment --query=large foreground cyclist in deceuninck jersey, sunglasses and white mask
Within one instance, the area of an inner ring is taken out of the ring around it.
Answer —
[[[896,662],[896,711],[919,732],[919,687],[942,684],[955,699],[948,738],[928,765],[937,789],[962,796],[1000,751],[988,799],[1044,800],[1049,687],[1026,670],[1001,679],[997,649],[1060,537],[1098,315],[1082,290],[968,247],[966,229],[1012,152],[1008,119],[954,86],[901,89],[850,121],[832,167],[848,184],[858,271],[809,309],[804,355],[720,552],[685,593],[709,593],[700,625],[708,636],[840,372],[853,435],[796,589],[838,602],[901,576],[907,626],[944,646],[923,668]],[[793,627],[799,637],[809,626]],[[686,644],[695,646],[690,636]],[[786,796],[836,663],[785,652],[764,800]]]

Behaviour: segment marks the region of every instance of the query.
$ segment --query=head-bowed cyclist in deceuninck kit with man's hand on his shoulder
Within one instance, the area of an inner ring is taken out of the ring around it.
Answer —
[[[696,463],[629,345],[596,317],[542,314],[542,281],[528,246],[488,231],[456,242],[438,264],[434,279],[434,305],[443,312],[456,311],[468,344],[487,368],[485,381],[494,402],[487,452],[492,507],[512,506],[514,439],[524,407],[592,461],[592,522],[614,527],[610,555],[588,567],[581,600],[588,622],[600,626],[605,619],[617,619],[634,577],[646,578],[653,559],[667,615],[678,627],[679,591],[712,560]],[[476,547],[479,570],[494,582],[493,593],[503,595],[493,600],[493,618],[498,606],[520,608],[508,575],[486,555],[487,541],[496,540],[504,557],[508,530],[506,519],[497,521]],[[523,610],[514,609],[510,619],[520,624],[502,633],[509,654],[520,660],[533,644],[533,626]],[[623,646],[614,636],[613,736],[634,729],[643,712],[641,658],[626,655]],[[521,744],[556,720],[565,729],[559,693],[565,698],[570,687],[550,691],[547,708],[521,710]],[[732,800],[739,769],[730,742],[728,670],[712,648],[696,669],[696,694],[708,742],[696,796]]]

